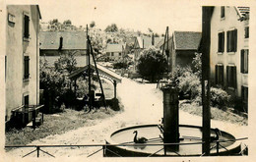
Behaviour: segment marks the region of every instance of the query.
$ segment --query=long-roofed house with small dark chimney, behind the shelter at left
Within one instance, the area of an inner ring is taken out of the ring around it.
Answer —
[[[54,67],[62,54],[73,53],[77,60],[77,67],[84,67],[87,63],[87,36],[84,31],[41,31],[39,33],[40,58]]]

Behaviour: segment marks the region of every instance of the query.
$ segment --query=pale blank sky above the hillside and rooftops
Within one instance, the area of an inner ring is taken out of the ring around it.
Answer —
[[[61,2],[61,3],[60,3]],[[96,22],[104,29],[108,25],[164,33],[171,30],[201,30],[201,6],[196,3],[157,0],[66,0],[39,1],[42,22],[71,20],[79,27]]]

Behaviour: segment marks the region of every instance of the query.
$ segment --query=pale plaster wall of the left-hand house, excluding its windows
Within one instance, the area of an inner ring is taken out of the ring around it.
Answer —
[[[15,24],[6,27],[6,115],[24,104],[24,95],[30,95],[30,104],[36,105],[39,97],[38,81],[38,23],[36,6],[7,6],[7,16],[15,16]],[[24,40],[24,14],[30,17],[30,38]],[[30,56],[30,79],[24,80],[24,56]]]

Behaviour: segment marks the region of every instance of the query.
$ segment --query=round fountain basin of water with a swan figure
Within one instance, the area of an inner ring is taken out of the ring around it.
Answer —
[[[134,144],[129,146],[106,146],[104,156],[201,156],[202,155],[202,127],[179,125],[179,134],[184,140],[180,140],[179,150],[166,151],[164,154],[163,145],[142,145],[133,142],[134,131],[138,131],[138,136],[144,136],[149,139],[146,144],[163,144],[160,139],[160,130],[158,125],[140,125],[134,127],[123,128],[115,131],[106,139],[107,144]],[[211,155],[233,155],[240,151],[240,142],[235,140],[233,135],[221,131],[219,140],[229,140],[228,142],[220,142],[223,146],[219,146],[219,153],[215,147],[217,142],[212,142]],[[215,135],[211,129],[211,135]],[[232,141],[233,140],[233,141]],[[187,144],[188,143],[188,144]],[[193,144],[197,143],[197,144]],[[198,144],[200,143],[200,144]],[[157,152],[157,153],[156,153]]]

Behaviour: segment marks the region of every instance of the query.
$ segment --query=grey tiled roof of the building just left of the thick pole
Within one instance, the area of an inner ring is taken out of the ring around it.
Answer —
[[[198,31],[174,31],[173,41],[176,50],[197,50],[201,32]]]

